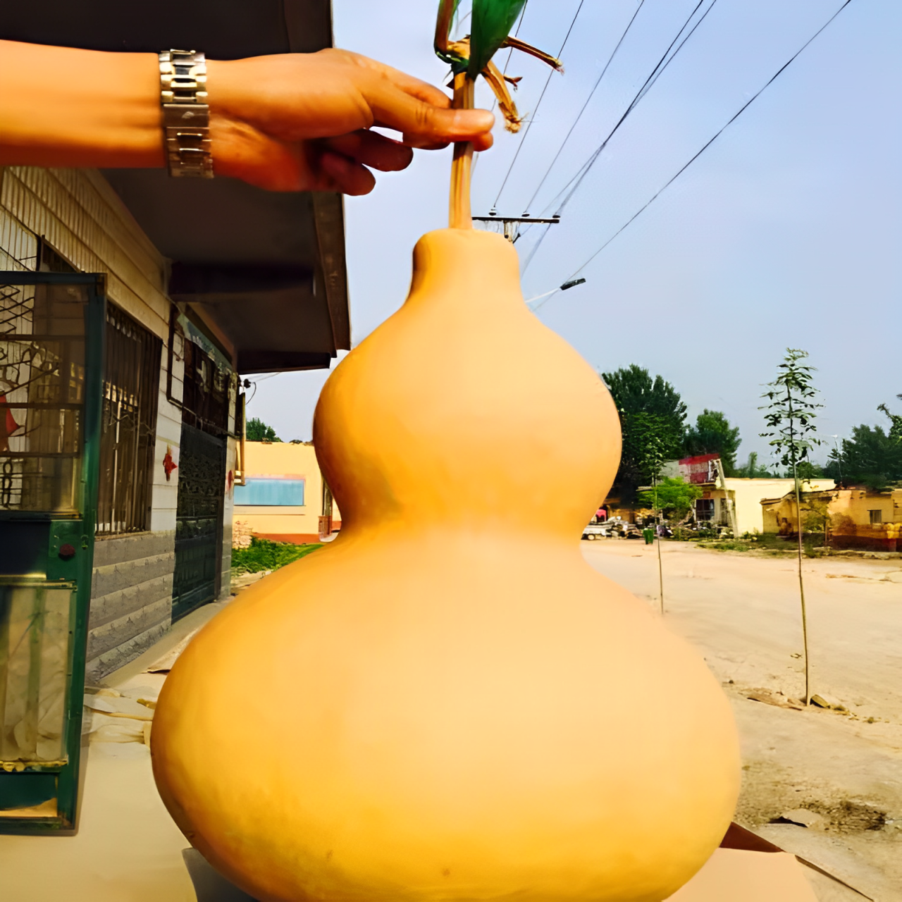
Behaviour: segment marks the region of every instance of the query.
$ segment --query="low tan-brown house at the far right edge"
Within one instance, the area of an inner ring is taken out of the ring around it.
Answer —
[[[875,492],[866,488],[833,488],[802,492],[805,530],[817,531],[813,520],[823,518],[831,548],[898,550],[902,532],[902,489]],[[761,502],[766,532],[795,535],[798,531],[796,493],[790,491]]]

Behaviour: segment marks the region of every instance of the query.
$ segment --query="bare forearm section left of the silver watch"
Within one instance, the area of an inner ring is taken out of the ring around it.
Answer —
[[[152,53],[0,41],[0,165],[161,167]]]

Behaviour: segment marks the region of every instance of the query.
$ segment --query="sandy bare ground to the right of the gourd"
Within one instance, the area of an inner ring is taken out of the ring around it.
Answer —
[[[902,900],[902,561],[805,560],[812,692],[842,702],[849,713],[839,713],[747,697],[804,692],[793,558],[677,542],[661,550],[665,619],[701,649],[732,700],[744,758],[737,820],[867,896]],[[654,546],[607,539],[583,551],[658,608]],[[769,823],[799,808],[821,820]]]

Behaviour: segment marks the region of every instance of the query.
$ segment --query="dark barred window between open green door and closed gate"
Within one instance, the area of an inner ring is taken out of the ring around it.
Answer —
[[[162,343],[106,305],[97,535],[148,528]]]

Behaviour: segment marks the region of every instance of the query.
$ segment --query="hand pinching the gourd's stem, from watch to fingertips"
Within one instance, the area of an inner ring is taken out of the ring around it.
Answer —
[[[452,110],[437,87],[349,51],[207,60],[207,90],[216,173],[270,190],[367,194],[370,169],[402,170],[412,148],[492,146],[487,110]]]

